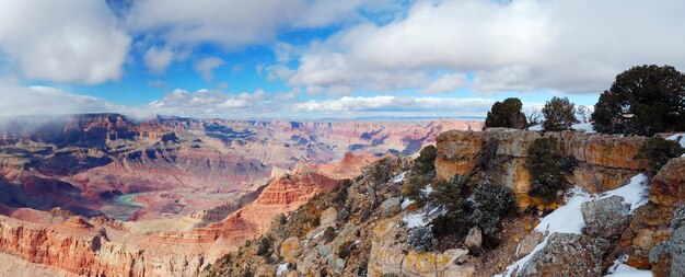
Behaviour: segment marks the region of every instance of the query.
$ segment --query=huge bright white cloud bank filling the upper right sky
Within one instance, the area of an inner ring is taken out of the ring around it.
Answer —
[[[288,81],[315,91],[429,92],[453,86],[434,77],[446,71],[474,73],[483,93],[597,93],[635,65],[685,68],[684,13],[678,0],[417,1],[388,24],[312,43]]]

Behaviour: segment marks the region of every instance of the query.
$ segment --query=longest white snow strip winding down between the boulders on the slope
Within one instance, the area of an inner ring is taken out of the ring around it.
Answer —
[[[539,221],[539,224],[535,228],[535,231],[537,232],[547,233],[545,240],[541,244],[537,244],[531,254],[508,266],[507,274],[503,276],[511,276],[514,270],[523,268],[529,259],[531,259],[536,252],[541,251],[547,244],[549,234],[555,232],[574,234],[582,233],[582,229],[585,227],[585,221],[583,220],[580,207],[583,203],[618,195],[624,197],[626,203],[630,204],[630,212],[632,212],[635,209],[647,203],[649,186],[647,175],[640,173],[632,176],[626,185],[600,195],[590,195],[578,187],[574,187],[571,192],[573,196],[564,206],[544,217]]]

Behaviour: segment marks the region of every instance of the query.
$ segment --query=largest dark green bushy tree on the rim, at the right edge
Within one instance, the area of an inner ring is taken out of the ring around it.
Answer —
[[[609,134],[685,130],[685,74],[670,66],[626,70],[600,95],[591,122],[596,131]]]

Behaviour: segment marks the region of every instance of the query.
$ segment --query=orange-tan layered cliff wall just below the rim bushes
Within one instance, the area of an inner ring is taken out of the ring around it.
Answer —
[[[529,146],[541,137],[557,138],[562,154],[576,157],[579,165],[568,178],[590,192],[614,189],[645,169],[641,161],[634,159],[643,137],[489,128],[441,134],[437,139],[437,177],[449,180],[454,174],[467,174],[476,166],[484,149],[496,148],[492,182],[511,187],[520,204],[526,205],[531,177],[525,169],[525,158]]]

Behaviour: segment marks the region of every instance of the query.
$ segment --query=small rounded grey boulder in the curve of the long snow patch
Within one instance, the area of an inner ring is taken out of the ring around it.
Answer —
[[[617,239],[630,221],[630,205],[616,195],[583,203],[580,211],[590,236]]]

